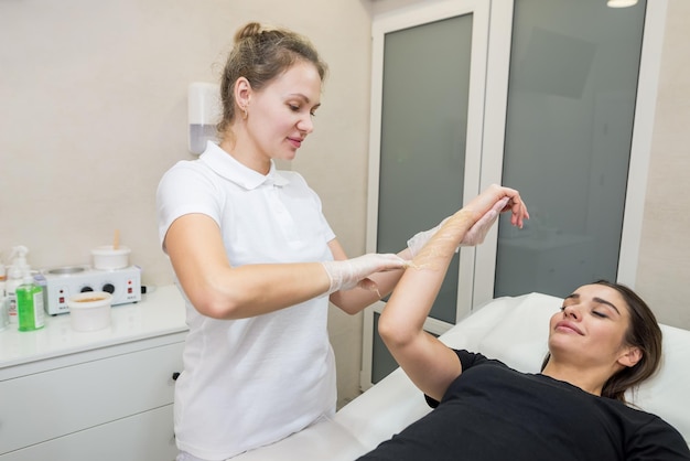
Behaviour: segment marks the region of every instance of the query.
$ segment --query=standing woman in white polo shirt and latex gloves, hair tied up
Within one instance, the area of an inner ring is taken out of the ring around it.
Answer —
[[[347,259],[316,193],[276,169],[314,129],[325,74],[305,37],[241,28],[220,83],[219,144],[159,184],[160,238],[190,326],[175,384],[179,461],[228,459],[332,416],[328,301],[359,312],[392,290],[412,257],[406,248]],[[483,239],[492,224],[468,238]]]

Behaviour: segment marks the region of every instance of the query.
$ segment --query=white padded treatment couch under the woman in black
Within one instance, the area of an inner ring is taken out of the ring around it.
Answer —
[[[547,353],[549,319],[561,301],[541,293],[499,298],[475,310],[440,339],[452,347],[498,358],[518,371],[538,373]],[[661,368],[627,399],[662,417],[690,442],[690,331],[668,325],[661,325]],[[421,392],[397,368],[332,419],[233,460],[352,461],[430,410]]]

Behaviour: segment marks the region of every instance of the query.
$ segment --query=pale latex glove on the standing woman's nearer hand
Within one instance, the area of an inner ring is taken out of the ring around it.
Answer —
[[[342,261],[321,262],[331,279],[328,294],[338,290],[352,290],[357,286],[376,290],[376,283],[368,279],[371,274],[401,269],[406,261],[398,255],[371,253]]]

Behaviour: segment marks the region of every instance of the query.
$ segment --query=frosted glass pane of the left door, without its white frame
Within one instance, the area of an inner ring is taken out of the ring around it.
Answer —
[[[462,207],[472,15],[386,34],[377,251]],[[431,315],[455,323],[459,258]]]

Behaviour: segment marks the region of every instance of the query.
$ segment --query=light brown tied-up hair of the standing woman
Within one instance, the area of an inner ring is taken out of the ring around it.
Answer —
[[[260,90],[299,61],[312,63],[323,81],[327,65],[312,43],[287,29],[269,29],[250,22],[235,34],[235,46],[228,55],[220,79],[223,118],[218,133],[223,136],[235,119],[235,82],[245,77],[255,90]]]

